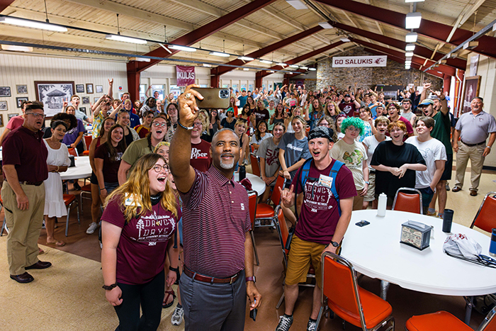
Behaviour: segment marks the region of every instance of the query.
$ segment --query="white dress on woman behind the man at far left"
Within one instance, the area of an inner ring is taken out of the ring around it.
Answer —
[[[43,141],[48,150],[47,164],[57,167],[69,166],[71,164],[66,145],[61,144],[58,150],[53,150],[46,140]],[[45,212],[43,215],[48,215],[48,217],[62,217],[67,215],[63,193],[60,174],[58,172],[49,172],[48,178],[45,180]]]

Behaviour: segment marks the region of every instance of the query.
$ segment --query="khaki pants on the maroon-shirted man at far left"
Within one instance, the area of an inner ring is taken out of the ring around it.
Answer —
[[[16,193],[8,182],[4,181],[4,186],[1,188],[9,228],[7,259],[11,275],[24,274],[26,272],[24,267],[38,262],[38,237],[45,210],[45,184],[40,186],[21,184],[21,187],[29,199],[27,211],[17,208]]]

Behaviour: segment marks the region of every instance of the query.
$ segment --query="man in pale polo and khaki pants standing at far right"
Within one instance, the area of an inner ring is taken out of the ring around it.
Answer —
[[[490,113],[483,111],[484,102],[476,96],[470,102],[471,110],[458,119],[453,138],[453,150],[456,152],[456,181],[453,192],[463,186],[465,169],[470,159],[470,196],[477,196],[480,174],[483,172],[485,157],[491,152],[496,139],[496,120]],[[489,136],[489,142],[486,140]],[[461,138],[458,144],[458,138]]]

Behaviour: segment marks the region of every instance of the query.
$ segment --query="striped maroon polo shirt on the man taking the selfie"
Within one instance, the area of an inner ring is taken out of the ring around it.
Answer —
[[[184,264],[205,276],[229,277],[244,269],[245,234],[252,228],[246,189],[217,168],[195,169],[183,201]]]

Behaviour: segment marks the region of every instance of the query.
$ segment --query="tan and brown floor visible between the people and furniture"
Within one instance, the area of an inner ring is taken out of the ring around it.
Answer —
[[[469,178],[468,174],[466,179]],[[450,183],[451,187],[453,182],[452,180]],[[496,191],[494,173],[483,174],[479,196],[469,196],[466,189],[458,193],[449,192],[447,208],[455,210],[455,222],[470,225],[487,191]],[[0,259],[0,330],[115,330],[118,320],[101,288],[103,278],[97,233],[85,233],[91,222],[89,202],[84,202],[84,208],[81,225],[77,224],[75,214],[72,216],[69,237],[64,237],[64,223],[59,223],[56,231],[58,239],[67,241],[65,247],[55,249],[40,246],[45,249],[45,254],[41,255],[40,259],[52,262],[53,266],[45,270],[33,270],[35,281],[32,283],[18,284],[9,279],[6,258]],[[2,212],[0,218],[3,219],[3,216]],[[260,266],[255,267],[255,274],[263,300],[257,322],[247,318],[245,330],[274,330],[278,316],[282,315],[284,310],[284,304],[280,309],[275,309],[282,293],[281,248],[276,232],[267,228],[257,228],[255,237],[260,257]],[[42,230],[39,242],[45,242],[45,230]],[[5,250],[4,235],[0,237],[0,256],[6,257]],[[379,292],[379,281],[376,279],[363,277],[361,286],[374,293]],[[396,330],[403,330],[405,320],[414,314],[444,309],[458,318],[463,318],[465,310],[463,298],[418,293],[395,285],[390,287],[388,301],[393,306]],[[300,291],[295,308],[295,322],[291,330],[305,330],[310,308],[311,290]],[[184,325],[171,325],[173,310],[174,306],[163,310],[159,330],[184,330]],[[475,329],[482,320],[482,315],[473,313],[470,326]],[[325,319],[320,325],[320,330],[342,330],[341,320]],[[359,329],[347,324],[346,330]]]

